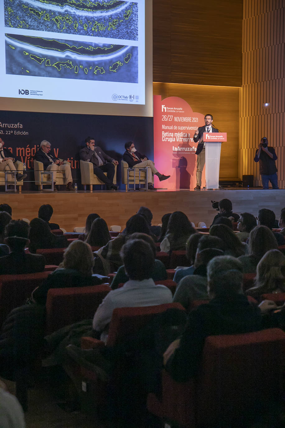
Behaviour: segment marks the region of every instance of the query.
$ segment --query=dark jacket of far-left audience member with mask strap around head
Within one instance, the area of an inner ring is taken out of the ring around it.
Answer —
[[[17,275],[44,271],[45,260],[40,254],[10,253],[0,257],[0,275]]]

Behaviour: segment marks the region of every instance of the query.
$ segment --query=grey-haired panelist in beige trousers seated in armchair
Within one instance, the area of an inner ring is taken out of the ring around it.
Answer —
[[[44,171],[64,171],[65,172],[65,184],[66,190],[74,191],[72,187],[72,175],[70,163],[66,160],[60,160],[50,154],[50,143],[47,140],[43,140],[40,144],[40,148],[35,153],[34,160],[42,162],[44,165]],[[54,182],[56,184],[56,181]],[[56,192],[57,188],[53,186],[53,190]]]

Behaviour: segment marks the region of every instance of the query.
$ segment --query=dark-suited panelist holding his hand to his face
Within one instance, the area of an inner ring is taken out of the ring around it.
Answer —
[[[85,144],[86,146],[79,152],[80,159],[93,163],[94,174],[106,184],[107,190],[118,190],[118,187],[113,184],[114,165],[118,165],[118,160],[112,159],[99,146],[95,146],[94,137],[87,137]],[[107,176],[104,172],[107,172]]]

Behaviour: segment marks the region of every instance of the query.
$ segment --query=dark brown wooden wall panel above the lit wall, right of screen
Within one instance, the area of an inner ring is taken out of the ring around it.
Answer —
[[[241,86],[242,0],[153,0],[153,81]]]

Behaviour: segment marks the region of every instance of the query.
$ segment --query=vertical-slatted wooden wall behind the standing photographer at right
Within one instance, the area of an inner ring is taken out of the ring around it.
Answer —
[[[285,186],[285,0],[244,0],[243,70],[240,113],[239,175],[254,175],[253,161],[261,137],[277,154],[279,187]],[[262,104],[270,107],[264,109]]]

